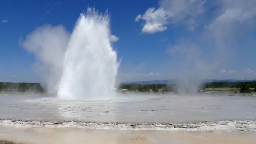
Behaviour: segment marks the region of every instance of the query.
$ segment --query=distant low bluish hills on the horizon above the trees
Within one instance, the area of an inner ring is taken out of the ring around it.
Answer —
[[[235,80],[235,79],[227,79],[227,80],[215,80],[215,79],[206,79],[202,80],[202,82],[252,82],[254,80]],[[136,82],[122,82],[122,84],[175,84],[178,80],[149,80],[149,81],[136,81]]]

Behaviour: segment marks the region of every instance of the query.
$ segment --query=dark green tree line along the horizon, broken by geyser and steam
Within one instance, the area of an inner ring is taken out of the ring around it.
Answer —
[[[177,92],[177,84],[120,84],[118,88],[139,92]],[[240,93],[256,92],[256,80],[252,82],[206,82],[200,89],[205,88],[240,88]],[[254,89],[253,89],[254,88]],[[46,92],[40,83],[0,82],[0,92]]]

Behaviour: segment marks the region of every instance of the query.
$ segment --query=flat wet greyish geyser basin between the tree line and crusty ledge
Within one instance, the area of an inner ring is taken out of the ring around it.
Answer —
[[[255,120],[256,97],[118,94],[101,101],[60,100],[40,94],[1,94],[0,116],[19,120],[89,122],[196,122]]]

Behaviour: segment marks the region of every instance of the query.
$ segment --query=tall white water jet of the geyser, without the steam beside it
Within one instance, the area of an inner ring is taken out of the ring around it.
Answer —
[[[102,100],[115,95],[118,63],[110,41],[108,14],[80,14],[64,56],[58,97]]]

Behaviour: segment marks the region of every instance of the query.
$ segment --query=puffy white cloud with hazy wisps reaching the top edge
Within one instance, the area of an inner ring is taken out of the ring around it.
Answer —
[[[197,24],[194,17],[203,12],[203,0],[160,0],[159,8],[148,8],[135,22],[143,20],[142,33],[156,33],[167,30],[168,24],[184,22],[187,30],[194,31]]]

